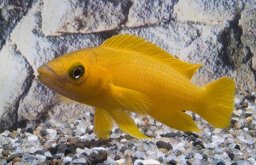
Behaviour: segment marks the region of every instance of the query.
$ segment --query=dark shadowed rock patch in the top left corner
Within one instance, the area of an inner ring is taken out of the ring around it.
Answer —
[[[36,1],[4,1],[0,8],[0,50],[3,48],[6,38],[10,36],[15,26]]]

